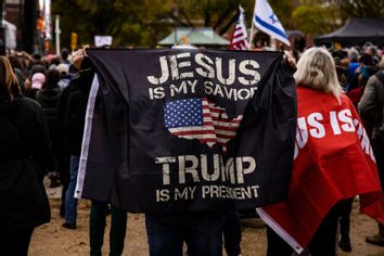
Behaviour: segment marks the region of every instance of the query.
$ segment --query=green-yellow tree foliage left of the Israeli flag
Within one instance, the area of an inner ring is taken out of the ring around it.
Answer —
[[[226,34],[239,4],[251,27],[255,2],[248,0],[52,0],[52,13],[61,16],[63,47],[69,48],[72,31],[78,47],[92,44],[95,35],[113,36],[114,47],[155,47],[176,26]]]

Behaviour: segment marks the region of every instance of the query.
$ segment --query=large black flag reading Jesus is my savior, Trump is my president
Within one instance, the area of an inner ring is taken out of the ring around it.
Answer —
[[[286,197],[296,89],[281,52],[87,52],[97,77],[77,196],[137,213]]]

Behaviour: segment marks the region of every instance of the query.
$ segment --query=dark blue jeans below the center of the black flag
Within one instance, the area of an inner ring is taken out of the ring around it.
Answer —
[[[183,242],[189,256],[220,256],[222,225],[219,212],[145,214],[150,256],[181,256]]]

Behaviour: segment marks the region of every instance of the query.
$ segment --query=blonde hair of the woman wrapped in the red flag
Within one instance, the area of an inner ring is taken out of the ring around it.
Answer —
[[[293,76],[297,85],[332,93],[340,102],[343,88],[337,80],[333,57],[325,49],[313,47],[306,50]]]

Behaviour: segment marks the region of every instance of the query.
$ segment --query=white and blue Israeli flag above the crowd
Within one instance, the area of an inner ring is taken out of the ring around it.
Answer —
[[[272,8],[267,0],[255,1],[254,24],[260,30],[267,33],[272,38],[284,42],[286,46],[291,46],[285,30],[278,16],[274,14]]]

